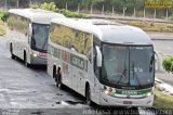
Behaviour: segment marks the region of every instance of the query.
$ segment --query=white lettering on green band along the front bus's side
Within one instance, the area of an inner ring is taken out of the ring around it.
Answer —
[[[72,65],[75,65],[75,66],[83,69],[83,67],[84,67],[84,62],[83,62],[82,59],[79,59],[79,58],[77,58],[77,56],[72,56],[71,59],[72,59]]]

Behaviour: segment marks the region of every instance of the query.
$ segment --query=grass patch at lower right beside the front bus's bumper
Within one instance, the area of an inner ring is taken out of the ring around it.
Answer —
[[[156,89],[154,106],[160,110],[161,108],[173,108],[173,95],[158,91]]]

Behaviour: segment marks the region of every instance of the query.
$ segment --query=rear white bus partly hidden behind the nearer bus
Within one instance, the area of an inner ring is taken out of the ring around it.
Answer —
[[[8,37],[11,58],[25,64],[46,64],[48,34],[51,20],[63,14],[40,9],[12,9],[9,11]]]

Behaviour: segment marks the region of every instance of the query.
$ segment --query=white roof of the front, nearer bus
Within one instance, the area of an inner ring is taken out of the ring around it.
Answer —
[[[141,28],[106,20],[53,18],[52,22],[93,34],[109,43],[152,44],[148,35]]]

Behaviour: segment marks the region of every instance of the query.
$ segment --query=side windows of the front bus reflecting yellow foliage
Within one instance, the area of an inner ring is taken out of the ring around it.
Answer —
[[[63,25],[52,24],[50,30],[52,42],[68,48],[81,54],[91,53],[92,35]]]

